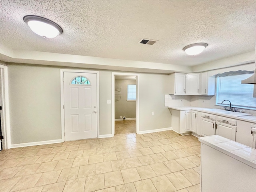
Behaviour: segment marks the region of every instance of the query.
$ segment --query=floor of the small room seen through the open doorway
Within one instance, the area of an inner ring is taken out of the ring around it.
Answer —
[[[115,134],[135,133],[136,120],[115,121]]]

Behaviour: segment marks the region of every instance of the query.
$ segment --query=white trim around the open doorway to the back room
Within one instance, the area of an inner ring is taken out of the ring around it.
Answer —
[[[136,85],[137,85],[137,98],[136,98],[136,133],[139,133],[139,118],[140,118],[140,74],[137,73],[111,73],[111,134],[114,137],[115,134],[115,76],[136,76]]]

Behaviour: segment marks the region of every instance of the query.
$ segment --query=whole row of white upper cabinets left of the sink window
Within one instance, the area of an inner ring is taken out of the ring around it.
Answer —
[[[170,74],[170,94],[174,95],[214,95],[215,76],[203,73]]]

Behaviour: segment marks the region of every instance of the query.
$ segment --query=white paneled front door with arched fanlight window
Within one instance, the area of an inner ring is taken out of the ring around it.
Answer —
[[[65,141],[97,137],[97,74],[64,72]]]

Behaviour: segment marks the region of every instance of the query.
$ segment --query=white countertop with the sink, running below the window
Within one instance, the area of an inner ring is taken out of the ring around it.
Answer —
[[[194,107],[194,106],[169,106],[168,108],[186,111],[186,110],[195,110],[199,112],[234,118],[237,120],[247,121],[251,123],[256,123],[256,116],[247,113],[239,113],[239,112],[229,112],[221,109],[210,109],[210,108],[202,108],[202,107]]]

